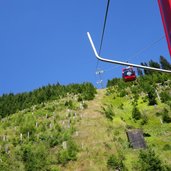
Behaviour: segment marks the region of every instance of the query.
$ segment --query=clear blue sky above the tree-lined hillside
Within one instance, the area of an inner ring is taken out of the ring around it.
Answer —
[[[0,94],[24,92],[48,83],[92,82],[97,60],[86,36],[99,48],[107,0],[1,0]],[[111,0],[101,55],[140,62],[165,56],[165,38],[157,0]],[[122,66],[99,62],[103,80],[121,76]]]

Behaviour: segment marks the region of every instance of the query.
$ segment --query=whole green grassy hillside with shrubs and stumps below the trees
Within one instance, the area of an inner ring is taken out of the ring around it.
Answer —
[[[111,80],[93,100],[66,93],[2,118],[0,170],[170,170],[171,82],[143,79]],[[135,128],[147,149],[130,147],[126,130]]]

